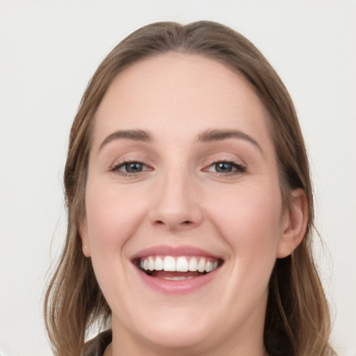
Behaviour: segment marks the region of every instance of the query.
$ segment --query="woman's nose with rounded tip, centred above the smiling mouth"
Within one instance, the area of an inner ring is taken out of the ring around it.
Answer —
[[[197,187],[184,169],[172,170],[156,182],[154,204],[149,213],[153,225],[170,231],[184,231],[202,223]]]

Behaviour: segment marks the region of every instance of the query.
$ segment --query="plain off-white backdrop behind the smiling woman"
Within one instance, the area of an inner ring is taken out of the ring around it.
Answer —
[[[65,238],[63,167],[97,65],[150,22],[222,22],[289,89],[312,165],[332,342],[356,356],[356,2],[0,0],[0,355],[51,355],[42,304]]]

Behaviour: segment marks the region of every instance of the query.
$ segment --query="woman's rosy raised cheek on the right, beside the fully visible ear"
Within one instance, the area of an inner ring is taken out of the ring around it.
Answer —
[[[222,199],[225,197],[225,199]],[[210,216],[239,259],[277,258],[282,199],[274,186],[242,186],[211,196]]]

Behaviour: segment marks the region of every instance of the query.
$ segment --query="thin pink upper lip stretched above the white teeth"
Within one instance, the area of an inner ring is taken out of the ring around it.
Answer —
[[[201,248],[196,248],[191,245],[181,245],[181,246],[169,246],[169,245],[157,245],[151,248],[146,248],[145,250],[141,250],[140,252],[133,254],[131,257],[131,261],[142,259],[143,257],[148,256],[201,256],[201,257],[210,257],[212,259],[220,259],[220,256],[216,254],[211,254],[206,250],[202,250]]]

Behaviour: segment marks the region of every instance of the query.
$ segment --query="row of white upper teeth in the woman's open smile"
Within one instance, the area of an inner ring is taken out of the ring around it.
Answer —
[[[218,267],[218,261],[200,257],[149,256],[140,260],[140,268],[144,270],[165,270],[170,272],[211,272]]]

